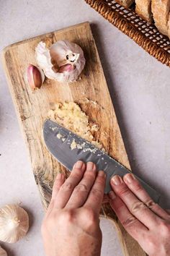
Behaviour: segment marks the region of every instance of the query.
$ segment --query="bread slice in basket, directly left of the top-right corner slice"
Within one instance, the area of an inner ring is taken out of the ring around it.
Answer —
[[[147,22],[152,22],[151,0],[135,0],[135,12]]]

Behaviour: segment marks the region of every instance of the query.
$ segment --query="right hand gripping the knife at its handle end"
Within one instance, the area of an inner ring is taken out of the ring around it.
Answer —
[[[133,174],[110,182],[110,205],[126,231],[149,256],[170,255],[170,214],[151,200]]]

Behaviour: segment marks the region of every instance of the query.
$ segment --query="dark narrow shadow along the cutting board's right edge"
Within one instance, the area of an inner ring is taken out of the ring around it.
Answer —
[[[126,129],[126,123],[125,123],[125,116],[123,116],[122,110],[120,108],[120,99],[119,95],[117,95],[116,90],[115,90],[115,80],[112,78],[110,74],[112,73],[111,68],[109,67],[109,64],[107,62],[106,54],[104,52],[104,47],[103,47],[103,42],[102,38],[100,35],[100,30],[99,26],[97,24],[92,23],[91,24],[91,30],[94,36],[95,43],[97,45],[97,50],[100,56],[100,60],[102,62],[102,67],[104,71],[105,78],[107,80],[107,85],[109,88],[109,93],[112,98],[112,103],[115,108],[115,113],[117,116],[117,121],[120,126],[120,131],[122,135],[123,142],[125,144],[125,150],[128,154],[128,159],[130,161],[130,166],[133,172],[139,176],[142,177],[144,181],[147,181],[148,184],[151,185],[156,191],[158,191],[161,195],[161,200],[159,204],[163,208],[170,208],[170,200],[169,200],[169,195],[164,191],[164,188],[161,187],[161,185],[158,184],[158,182],[154,182],[153,179],[148,179],[148,176],[143,176],[143,172],[140,169],[138,160],[135,159],[135,149],[133,148],[133,145],[131,143],[131,137],[130,137],[130,132],[128,129]]]

